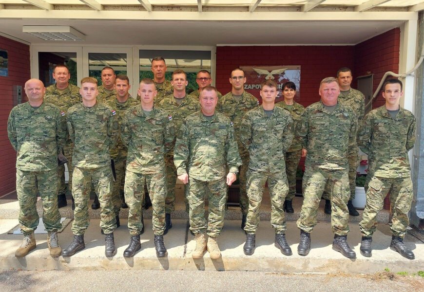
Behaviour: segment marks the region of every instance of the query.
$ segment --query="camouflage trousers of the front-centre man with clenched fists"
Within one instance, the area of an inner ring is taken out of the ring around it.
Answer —
[[[190,174],[189,174],[190,176]],[[226,177],[217,181],[203,182],[189,177],[190,229],[195,234],[218,237],[224,227],[225,202],[227,201]],[[209,216],[205,217],[205,193],[208,193]]]

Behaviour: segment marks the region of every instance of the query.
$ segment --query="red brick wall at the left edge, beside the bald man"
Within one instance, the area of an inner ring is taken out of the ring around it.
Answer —
[[[22,86],[22,101],[25,81],[30,78],[29,46],[0,36],[0,49],[8,53],[9,75],[0,76],[0,196],[15,190],[16,152],[7,138],[7,118],[13,108],[12,86]]]

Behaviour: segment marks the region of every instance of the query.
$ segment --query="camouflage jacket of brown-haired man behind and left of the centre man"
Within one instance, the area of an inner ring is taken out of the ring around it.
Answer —
[[[159,102],[158,107],[164,109],[169,115],[172,116],[172,120],[175,125],[175,131],[178,133],[181,128],[181,125],[183,124],[184,119],[188,115],[200,110],[200,103],[192,96],[186,95],[183,98],[181,104],[178,105],[175,102],[175,97],[173,96],[173,94],[171,94],[162,99]],[[174,146],[175,140],[173,141],[170,152],[168,152],[167,155],[173,156]]]

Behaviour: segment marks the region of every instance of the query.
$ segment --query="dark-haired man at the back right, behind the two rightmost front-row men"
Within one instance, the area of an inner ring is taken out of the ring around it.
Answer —
[[[350,87],[352,83],[352,72],[349,68],[343,67],[337,71],[337,81],[340,86],[339,102],[352,108],[358,119],[358,125],[364,118],[365,113],[365,97],[361,91]],[[355,145],[355,151],[351,152],[352,155],[347,157],[349,162],[349,186],[350,186],[350,199],[347,201],[347,209],[349,215],[359,216],[358,211],[353,207],[352,200],[355,199],[355,187],[356,187],[356,169],[359,165],[359,147]],[[326,190],[328,186],[326,186]],[[324,212],[331,214],[331,204],[328,195],[328,191],[325,191],[323,198],[326,199],[326,206]]]

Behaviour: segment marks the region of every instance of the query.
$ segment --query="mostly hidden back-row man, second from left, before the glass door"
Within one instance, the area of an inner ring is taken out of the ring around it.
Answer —
[[[98,94],[96,97],[97,102],[106,103],[107,101],[114,101],[116,99],[116,91],[114,88],[115,84],[115,70],[111,67],[104,67],[101,70],[101,83],[102,85],[97,87]],[[91,208],[96,210],[100,208],[100,202],[96,192],[94,191],[94,185],[91,185],[91,193],[94,193],[94,201],[91,204]],[[118,211],[119,213],[119,211]],[[119,217],[118,217],[119,219]],[[118,222],[116,222],[118,225]],[[118,226],[119,227],[119,226]]]

